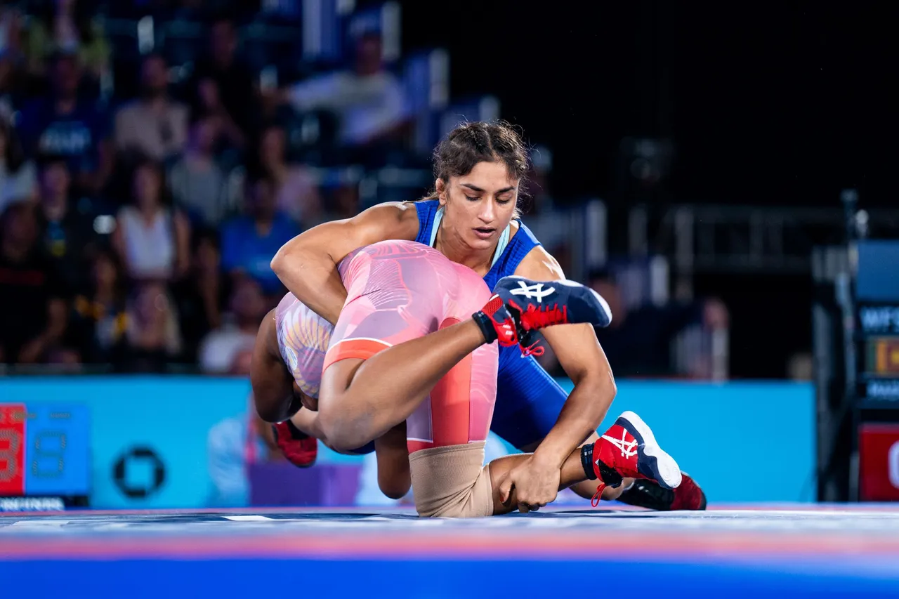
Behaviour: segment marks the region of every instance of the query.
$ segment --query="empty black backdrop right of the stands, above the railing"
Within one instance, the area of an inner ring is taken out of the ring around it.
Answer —
[[[617,170],[626,136],[672,142],[659,205],[837,207],[847,187],[862,207],[899,204],[899,5],[402,4],[404,49],[449,49],[451,93],[496,95],[552,149],[552,192],[601,197],[612,230],[634,201]],[[810,349],[810,274],[695,285],[731,310],[735,378],[783,377]]]

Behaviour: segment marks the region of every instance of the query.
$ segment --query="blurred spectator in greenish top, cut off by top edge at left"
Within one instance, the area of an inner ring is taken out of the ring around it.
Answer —
[[[34,14],[26,31],[28,66],[43,76],[54,52],[76,53],[90,76],[99,79],[109,69],[111,49],[92,7],[77,0],[53,0]]]

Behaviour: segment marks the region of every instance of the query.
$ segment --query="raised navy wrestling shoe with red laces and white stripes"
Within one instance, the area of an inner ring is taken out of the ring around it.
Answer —
[[[606,300],[581,283],[509,276],[496,283],[493,297],[473,317],[487,343],[521,344],[526,353],[537,353],[531,351],[532,331],[575,323],[609,326],[612,316]]]

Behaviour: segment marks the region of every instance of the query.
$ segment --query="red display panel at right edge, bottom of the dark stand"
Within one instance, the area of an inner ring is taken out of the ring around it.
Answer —
[[[862,501],[899,501],[899,425],[862,425],[859,435]]]

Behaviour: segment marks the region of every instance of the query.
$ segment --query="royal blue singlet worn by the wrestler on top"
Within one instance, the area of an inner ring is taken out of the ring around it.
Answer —
[[[415,241],[433,247],[443,215],[440,202],[417,201],[415,208],[418,210]],[[514,274],[524,256],[540,245],[530,229],[521,221],[519,224],[521,228],[515,235],[511,236],[510,227],[507,227],[500,236],[494,263],[484,277],[489,289],[504,276]],[[496,404],[490,426],[495,434],[518,449],[540,441],[556,425],[567,398],[565,390],[533,356],[522,356],[517,345],[500,347]]]

